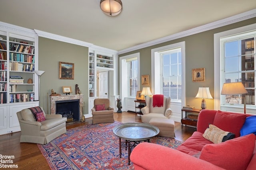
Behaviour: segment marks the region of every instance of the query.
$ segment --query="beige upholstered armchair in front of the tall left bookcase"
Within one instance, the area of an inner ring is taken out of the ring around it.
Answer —
[[[43,145],[66,133],[66,117],[62,117],[60,114],[46,115],[43,108],[40,108],[46,117],[46,120],[42,122],[36,121],[30,109],[17,112],[21,129],[20,142]]]

